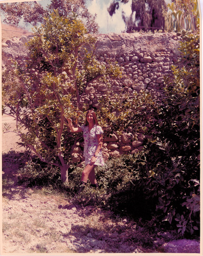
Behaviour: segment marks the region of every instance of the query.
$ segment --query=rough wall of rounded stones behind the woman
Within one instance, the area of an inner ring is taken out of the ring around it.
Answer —
[[[178,57],[178,40],[181,37],[176,33],[120,33],[120,34],[96,34],[98,39],[95,52],[99,61],[106,64],[107,59],[116,60],[122,67],[123,78],[114,81],[111,89],[115,93],[123,91],[133,92],[145,89],[160,97],[163,93],[164,75],[171,75],[170,66]],[[16,59],[27,58],[25,42],[30,36],[12,38],[3,43],[2,59],[3,67],[10,62],[11,57]],[[109,81],[110,82],[110,81]],[[106,84],[94,81],[88,84],[81,97],[81,104],[98,109],[98,98],[102,97],[108,88]],[[103,156],[119,156],[125,153],[133,154],[141,150],[144,135],[134,137],[130,133],[122,136],[112,135],[104,138]],[[82,159],[83,144],[79,142],[73,145],[72,156],[74,162]]]

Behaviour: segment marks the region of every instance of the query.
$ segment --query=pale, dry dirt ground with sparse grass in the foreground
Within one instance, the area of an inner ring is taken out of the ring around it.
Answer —
[[[143,252],[125,233],[130,223],[112,222],[93,207],[22,187],[7,193],[3,204],[4,253]]]

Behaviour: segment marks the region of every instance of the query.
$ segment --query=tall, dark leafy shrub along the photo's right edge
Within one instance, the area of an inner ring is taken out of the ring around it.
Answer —
[[[150,173],[144,190],[159,200],[163,221],[176,221],[178,232],[192,234],[199,229],[199,33],[184,35],[174,76],[166,79],[164,104],[148,131]]]

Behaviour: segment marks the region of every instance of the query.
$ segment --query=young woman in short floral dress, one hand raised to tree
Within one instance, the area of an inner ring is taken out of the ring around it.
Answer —
[[[74,127],[72,120],[67,119],[71,132],[83,132],[84,137],[84,158],[85,168],[82,172],[80,186],[84,187],[87,179],[91,181],[92,187],[98,187],[95,178],[95,166],[104,165],[102,157],[102,128],[98,125],[97,116],[93,110],[88,110],[86,113],[85,123],[79,127]]]

